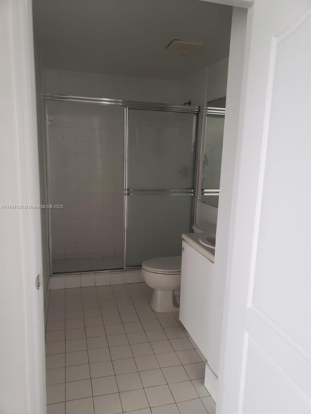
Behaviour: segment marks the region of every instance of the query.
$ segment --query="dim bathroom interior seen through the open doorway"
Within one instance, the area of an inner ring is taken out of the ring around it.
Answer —
[[[33,8],[48,413],[213,414],[232,7]]]

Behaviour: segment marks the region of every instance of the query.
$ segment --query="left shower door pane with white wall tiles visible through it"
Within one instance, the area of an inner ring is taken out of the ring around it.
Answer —
[[[52,257],[120,257],[123,241],[122,107],[49,101]],[[119,266],[117,266],[119,267]],[[53,271],[94,270],[60,268]]]

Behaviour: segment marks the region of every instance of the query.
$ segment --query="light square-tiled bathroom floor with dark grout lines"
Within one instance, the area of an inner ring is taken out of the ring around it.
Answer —
[[[145,283],[52,290],[48,414],[215,413],[205,358]]]

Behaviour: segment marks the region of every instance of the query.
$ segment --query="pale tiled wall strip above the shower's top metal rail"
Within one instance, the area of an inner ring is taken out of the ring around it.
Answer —
[[[182,103],[179,81],[73,70],[43,69],[43,91],[54,95]]]

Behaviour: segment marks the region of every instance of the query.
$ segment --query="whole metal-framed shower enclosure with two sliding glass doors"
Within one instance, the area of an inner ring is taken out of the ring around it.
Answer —
[[[52,273],[181,254],[194,213],[198,108],[45,96]]]

